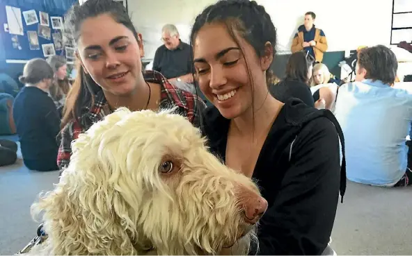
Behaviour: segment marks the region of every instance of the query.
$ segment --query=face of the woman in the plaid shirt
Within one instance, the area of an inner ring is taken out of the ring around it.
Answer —
[[[122,96],[135,91],[143,47],[129,28],[110,15],[90,17],[81,24],[78,45],[84,70],[106,93]]]

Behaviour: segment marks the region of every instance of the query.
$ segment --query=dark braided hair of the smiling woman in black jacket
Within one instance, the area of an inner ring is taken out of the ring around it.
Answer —
[[[239,45],[236,35],[240,35],[248,44],[253,46],[258,57],[264,56],[265,44],[270,42],[276,54],[276,28],[271,17],[255,1],[249,0],[226,0],[208,6],[196,17],[195,24],[191,30],[191,44],[196,38],[198,31],[205,24],[221,23],[228,30],[230,37]],[[193,56],[192,56],[193,57]],[[253,85],[251,71],[246,62],[249,79]],[[271,69],[266,71],[267,85],[274,83],[274,75]],[[253,90],[253,86],[252,86]]]

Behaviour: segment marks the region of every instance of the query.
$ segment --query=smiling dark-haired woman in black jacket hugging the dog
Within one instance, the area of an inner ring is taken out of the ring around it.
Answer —
[[[256,180],[269,203],[258,253],[322,254],[346,185],[338,122],[326,110],[269,94],[276,28],[255,1],[207,7],[196,17],[191,44],[200,89],[213,104],[203,115],[209,146]]]

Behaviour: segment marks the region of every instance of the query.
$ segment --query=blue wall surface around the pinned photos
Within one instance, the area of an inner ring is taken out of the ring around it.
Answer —
[[[24,64],[7,64],[6,60],[30,60],[32,58],[45,58],[42,52],[42,44],[53,43],[52,33],[57,32],[52,29],[52,23],[50,17],[58,16],[63,17],[65,12],[77,3],[77,0],[1,0],[0,1],[0,71],[6,71],[6,73],[11,73],[10,76],[14,76],[16,70],[22,70]],[[47,12],[49,14],[49,27],[51,28],[51,38],[50,40],[44,39],[38,36],[40,49],[30,50],[29,37],[27,36],[27,31],[38,32],[38,24],[32,24],[27,26],[22,15],[22,23],[24,35],[17,35],[21,50],[15,49],[13,47],[13,42],[11,38],[12,34],[4,32],[3,24],[7,23],[6,17],[6,6],[13,6],[20,8],[21,12],[26,10],[35,10],[38,19],[39,11]],[[56,51],[57,55],[63,54],[63,51]]]

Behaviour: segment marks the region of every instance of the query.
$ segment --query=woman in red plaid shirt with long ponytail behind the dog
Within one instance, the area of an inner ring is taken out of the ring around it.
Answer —
[[[199,125],[203,101],[158,72],[142,72],[143,40],[122,3],[88,0],[73,6],[65,17],[65,30],[74,35],[80,65],[63,110],[61,169],[69,163],[72,140],[120,106],[135,111],[175,105]]]

